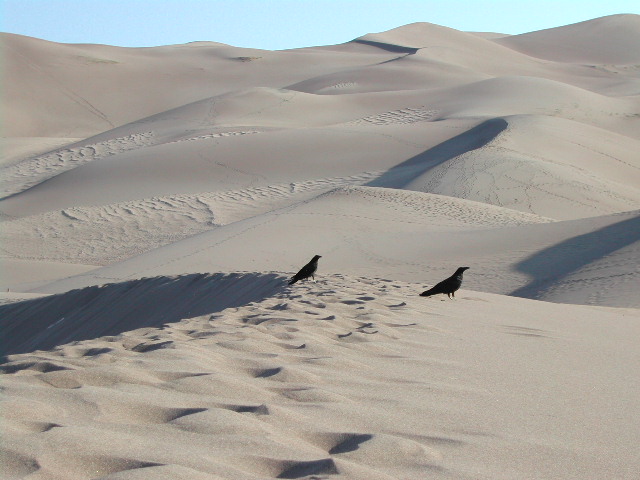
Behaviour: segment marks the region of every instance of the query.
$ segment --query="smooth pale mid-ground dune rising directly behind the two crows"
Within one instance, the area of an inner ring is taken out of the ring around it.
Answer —
[[[346,209],[345,205],[349,205]],[[210,228],[95,271],[40,286],[59,293],[99,283],[183,272],[294,270],[308,252],[320,253],[326,272],[375,276],[384,272],[405,281],[444,278],[456,264],[474,265],[469,288],[543,298],[546,289],[576,268],[638,243],[638,212],[549,222],[544,217],[419,192],[347,187],[290,206]],[[320,228],[318,228],[318,225]],[[613,232],[617,232],[613,235]],[[149,235],[149,237],[152,237]],[[126,237],[124,238],[126,239]],[[46,247],[45,247],[46,248]],[[127,248],[127,247],[123,247]],[[59,255],[64,253],[58,245]],[[534,258],[533,261],[528,259]],[[624,272],[631,290],[640,272],[632,251]],[[624,263],[624,260],[622,261]],[[609,296],[622,280],[615,269],[596,275],[589,288],[602,294],[585,303],[638,306],[637,296]],[[584,286],[587,287],[588,282]],[[527,289],[527,287],[530,287]],[[573,302],[576,292],[556,296]],[[584,301],[584,296],[581,296]]]

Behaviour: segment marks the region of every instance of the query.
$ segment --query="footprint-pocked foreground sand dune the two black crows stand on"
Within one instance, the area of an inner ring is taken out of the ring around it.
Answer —
[[[51,330],[89,321],[112,335],[2,366],[9,474],[634,478],[640,392],[624,372],[638,366],[637,310],[466,290],[427,300],[420,285],[336,275],[274,291],[277,281],[147,279],[49,300],[77,312]],[[216,284],[226,303],[253,301],[221,310]],[[195,316],[159,326],[171,314],[147,314],[161,291]],[[107,313],[114,295],[123,308]],[[138,319],[125,307],[136,299]]]

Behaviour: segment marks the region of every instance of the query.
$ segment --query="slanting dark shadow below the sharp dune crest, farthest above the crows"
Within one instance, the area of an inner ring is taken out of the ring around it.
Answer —
[[[509,124],[503,118],[492,118],[456,135],[429,150],[390,168],[380,177],[365,184],[369,187],[405,188],[415,178],[471,150],[487,145]]]

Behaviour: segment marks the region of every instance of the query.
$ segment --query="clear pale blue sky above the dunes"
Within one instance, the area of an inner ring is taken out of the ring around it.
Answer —
[[[526,33],[618,13],[638,0],[0,0],[0,31],[61,43],[194,41],[282,50],[348,42],[413,22]]]

